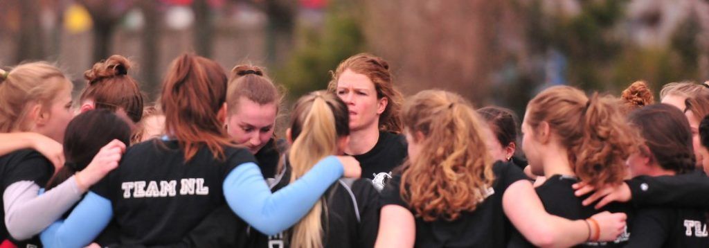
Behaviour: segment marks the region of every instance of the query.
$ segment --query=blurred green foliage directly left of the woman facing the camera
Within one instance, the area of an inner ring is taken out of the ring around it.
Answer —
[[[276,70],[275,80],[288,89],[290,99],[326,89],[342,60],[364,50],[364,35],[354,3],[330,1],[322,30],[300,28],[302,40],[284,67]]]

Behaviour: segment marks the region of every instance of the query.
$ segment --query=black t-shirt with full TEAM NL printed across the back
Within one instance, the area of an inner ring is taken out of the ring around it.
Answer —
[[[121,244],[173,244],[226,204],[222,184],[229,172],[255,162],[245,149],[224,147],[224,155],[215,159],[201,147],[185,162],[175,140],[143,142],[91,191],[111,200]]]

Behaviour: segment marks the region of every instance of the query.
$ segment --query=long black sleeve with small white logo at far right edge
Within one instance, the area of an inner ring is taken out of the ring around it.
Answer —
[[[625,181],[636,208],[669,206],[709,209],[709,177],[700,171],[676,176],[636,176]]]

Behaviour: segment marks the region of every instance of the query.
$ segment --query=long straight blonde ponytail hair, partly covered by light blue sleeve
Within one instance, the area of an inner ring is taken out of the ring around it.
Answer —
[[[294,142],[288,152],[291,182],[306,174],[320,159],[336,154],[338,138],[350,134],[347,106],[325,91],[298,99],[293,116],[291,137]],[[323,201],[321,198],[294,226],[291,247],[323,247]]]

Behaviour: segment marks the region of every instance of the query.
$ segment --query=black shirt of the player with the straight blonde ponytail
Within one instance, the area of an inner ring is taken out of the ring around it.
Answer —
[[[284,176],[274,186],[273,191],[289,184],[290,168],[286,168]],[[379,192],[374,189],[369,179],[354,181],[350,190],[359,208],[355,210],[352,196],[342,184],[344,183],[336,181],[324,195],[327,210],[323,211],[321,218],[323,247],[374,247],[376,233],[379,230]],[[357,222],[357,213],[359,213],[359,222]],[[289,247],[288,236],[291,230],[272,236],[250,230],[255,232],[252,239],[254,243],[250,247]]]

